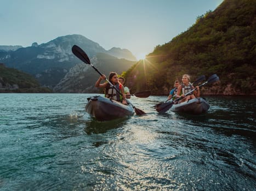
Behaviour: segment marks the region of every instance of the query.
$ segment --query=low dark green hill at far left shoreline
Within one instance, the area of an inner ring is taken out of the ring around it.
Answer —
[[[0,64],[0,92],[51,92],[29,74]]]

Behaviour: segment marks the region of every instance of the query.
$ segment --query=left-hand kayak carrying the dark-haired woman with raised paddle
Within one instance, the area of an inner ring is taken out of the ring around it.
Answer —
[[[87,98],[87,100],[86,112],[99,121],[115,120],[134,114],[132,104],[124,105],[102,96],[93,96]]]

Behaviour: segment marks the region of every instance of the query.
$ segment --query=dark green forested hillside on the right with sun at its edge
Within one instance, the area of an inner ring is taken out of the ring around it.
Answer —
[[[132,92],[151,89],[168,95],[183,74],[220,82],[202,87],[203,94],[256,94],[256,1],[225,0],[214,11],[198,16],[194,25],[164,45],[145,61],[136,63],[125,77]]]

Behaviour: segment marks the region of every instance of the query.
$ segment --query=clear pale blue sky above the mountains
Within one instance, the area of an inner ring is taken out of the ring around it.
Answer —
[[[31,46],[81,34],[137,59],[192,26],[223,0],[0,0],[0,45]]]

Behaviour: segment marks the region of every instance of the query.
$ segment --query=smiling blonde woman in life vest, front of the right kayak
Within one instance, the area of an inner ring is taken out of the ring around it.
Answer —
[[[181,85],[179,85],[178,90],[177,90],[177,96],[176,98],[180,98],[180,97],[185,97],[185,94],[190,92],[191,90],[195,89],[194,86],[191,85],[190,83],[190,76],[187,74],[184,74],[182,76],[182,83]],[[178,96],[180,95],[181,96]],[[196,97],[200,97],[200,89],[199,86],[196,86],[196,90],[194,92],[191,92],[190,94],[188,94],[185,98],[181,99],[181,102],[186,102],[190,99],[194,99]]]

